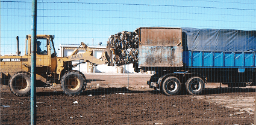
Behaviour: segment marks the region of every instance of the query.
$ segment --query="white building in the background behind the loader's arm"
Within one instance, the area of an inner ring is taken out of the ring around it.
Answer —
[[[60,56],[70,56],[70,54],[77,48],[79,44],[60,44]],[[95,46],[89,46],[93,50],[93,55],[96,58],[101,58],[102,51],[105,51],[106,46],[98,44]],[[78,53],[83,53],[85,50],[80,49]],[[72,63],[79,63],[79,61],[73,61]],[[95,67],[92,67],[90,63],[82,63],[75,68],[74,70],[78,70],[81,72],[105,72],[105,73],[127,73],[129,70],[129,73],[136,73],[134,72],[133,64],[130,65],[123,65],[121,67],[118,66],[108,66],[108,65],[98,65]]]

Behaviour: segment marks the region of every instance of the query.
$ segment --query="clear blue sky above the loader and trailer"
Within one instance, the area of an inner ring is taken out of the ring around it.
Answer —
[[[25,36],[32,33],[32,3],[5,0],[0,4],[0,54],[16,53],[19,36],[23,55]],[[110,35],[140,27],[256,31],[255,6],[253,0],[37,0],[37,34],[55,35],[57,50],[60,44],[105,45]]]

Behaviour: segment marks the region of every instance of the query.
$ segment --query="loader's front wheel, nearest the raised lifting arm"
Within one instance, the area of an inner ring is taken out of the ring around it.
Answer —
[[[61,89],[69,96],[79,95],[86,89],[86,78],[79,71],[69,71],[61,78]]]

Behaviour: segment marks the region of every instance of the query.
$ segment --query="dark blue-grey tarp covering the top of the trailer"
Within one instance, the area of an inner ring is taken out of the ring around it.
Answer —
[[[256,31],[181,28],[190,51],[254,52]]]

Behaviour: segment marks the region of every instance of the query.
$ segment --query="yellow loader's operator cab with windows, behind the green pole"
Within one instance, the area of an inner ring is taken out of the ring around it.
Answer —
[[[54,48],[54,35],[37,35],[36,39],[36,66],[46,72],[55,71],[57,68],[57,53]],[[26,51],[28,63],[31,57],[31,35],[27,35]],[[47,68],[46,68],[47,67]]]

